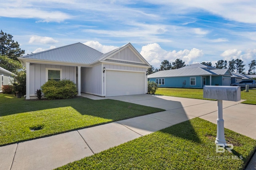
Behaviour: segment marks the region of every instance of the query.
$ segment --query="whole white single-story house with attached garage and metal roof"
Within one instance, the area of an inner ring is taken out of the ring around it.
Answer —
[[[26,65],[26,99],[50,79],[70,79],[81,92],[97,96],[147,93],[150,64],[131,43],[106,54],[74,43],[18,57]]]

